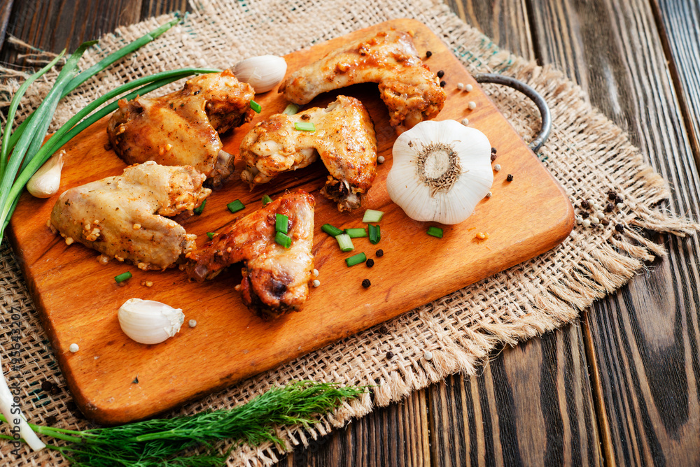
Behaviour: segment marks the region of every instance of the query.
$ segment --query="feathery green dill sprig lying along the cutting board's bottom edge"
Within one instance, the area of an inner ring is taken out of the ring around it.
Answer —
[[[332,412],[343,401],[357,398],[365,390],[365,387],[300,381],[269,389],[232,409],[172,419],[85,431],[29,426],[36,433],[68,442],[46,447],[58,450],[75,466],[220,466],[225,464],[230,450],[241,443],[257,446],[272,441],[283,446],[283,441],[275,434],[277,427],[297,424],[308,427],[318,421],[318,415]],[[231,440],[234,444],[228,451],[221,452],[213,444],[219,440]],[[203,454],[179,455],[192,447],[203,447]]]

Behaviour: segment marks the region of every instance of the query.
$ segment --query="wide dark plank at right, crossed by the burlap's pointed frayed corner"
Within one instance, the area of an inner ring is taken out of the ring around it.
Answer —
[[[591,102],[629,131],[670,182],[668,208],[698,219],[700,182],[649,3],[533,1],[533,10],[542,60],[579,79]],[[611,465],[700,463],[700,242],[657,240],[668,258],[589,314]]]

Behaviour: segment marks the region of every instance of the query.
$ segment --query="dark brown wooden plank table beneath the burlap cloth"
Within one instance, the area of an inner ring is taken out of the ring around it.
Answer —
[[[624,128],[700,219],[700,6],[687,0],[449,0],[503,48],[554,64]],[[108,6],[109,5],[109,6]],[[73,50],[186,0],[1,0],[12,34]],[[578,322],[493,355],[280,462],[306,465],[700,465],[700,240],[657,235],[654,261]]]

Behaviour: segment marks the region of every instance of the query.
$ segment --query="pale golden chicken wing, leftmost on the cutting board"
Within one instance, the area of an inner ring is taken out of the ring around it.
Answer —
[[[204,180],[192,166],[153,161],[130,166],[122,175],[63,192],[53,207],[51,226],[66,243],[78,241],[144,270],[165,269],[195,248],[197,236],[163,216],[200,206],[211,193],[202,188]]]

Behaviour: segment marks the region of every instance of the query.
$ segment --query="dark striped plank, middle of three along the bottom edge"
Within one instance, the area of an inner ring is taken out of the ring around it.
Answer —
[[[601,464],[579,326],[507,348],[429,392],[435,465]]]

